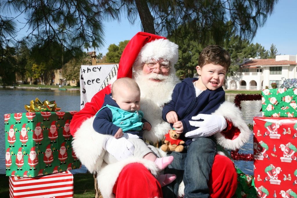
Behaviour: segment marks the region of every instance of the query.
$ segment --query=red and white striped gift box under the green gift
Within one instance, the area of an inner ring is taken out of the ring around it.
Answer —
[[[10,198],[73,197],[73,175],[69,171],[34,178],[9,177]]]

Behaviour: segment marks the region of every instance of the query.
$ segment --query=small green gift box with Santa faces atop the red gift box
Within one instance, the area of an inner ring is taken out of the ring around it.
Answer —
[[[297,117],[297,88],[262,90],[262,116]]]

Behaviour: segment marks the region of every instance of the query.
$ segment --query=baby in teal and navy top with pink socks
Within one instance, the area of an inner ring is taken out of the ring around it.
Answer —
[[[134,156],[153,161],[159,170],[163,170],[173,161],[173,156],[157,158],[152,153],[155,148],[142,140],[142,130],[149,131],[151,124],[143,119],[137,83],[128,77],[119,78],[113,83],[111,93],[105,96],[102,108],[96,114],[94,130],[115,138],[127,138],[135,146]],[[173,174],[165,174],[159,175],[157,180],[165,186],[175,178]]]

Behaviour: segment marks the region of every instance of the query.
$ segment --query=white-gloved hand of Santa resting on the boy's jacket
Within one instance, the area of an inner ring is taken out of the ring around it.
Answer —
[[[192,119],[203,119],[203,121],[189,121],[191,126],[199,128],[187,132],[185,137],[208,137],[217,132],[221,132],[227,127],[227,122],[222,115],[198,114],[193,116]]]

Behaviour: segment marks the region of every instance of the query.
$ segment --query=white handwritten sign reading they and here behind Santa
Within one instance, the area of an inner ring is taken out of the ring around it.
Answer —
[[[108,82],[116,77],[117,72],[117,64],[80,66],[80,109],[86,102],[90,102],[98,91],[105,88]]]

